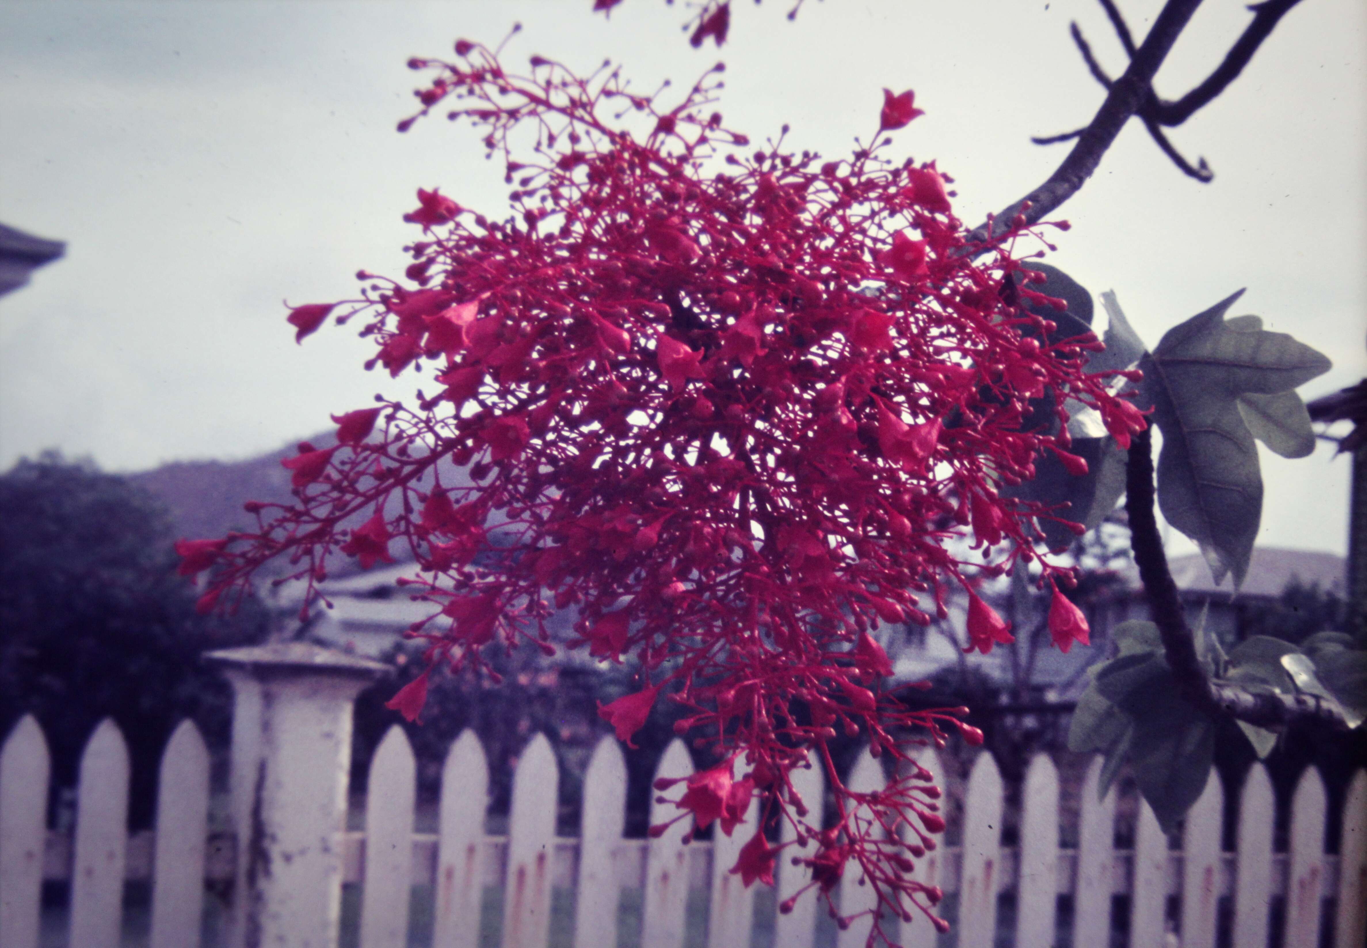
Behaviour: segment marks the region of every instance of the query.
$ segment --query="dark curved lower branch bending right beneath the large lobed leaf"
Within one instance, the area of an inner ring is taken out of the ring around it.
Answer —
[[[1136,434],[1129,445],[1125,469],[1125,511],[1129,515],[1131,548],[1139,578],[1148,596],[1148,608],[1163,641],[1163,656],[1177,682],[1177,690],[1197,710],[1228,714],[1260,728],[1281,729],[1297,721],[1315,721],[1346,729],[1342,710],[1310,694],[1248,691],[1214,682],[1206,675],[1196,654],[1196,637],[1187,624],[1187,611],[1177,594],[1177,583],[1167,568],[1163,540],[1154,514],[1152,429]]]

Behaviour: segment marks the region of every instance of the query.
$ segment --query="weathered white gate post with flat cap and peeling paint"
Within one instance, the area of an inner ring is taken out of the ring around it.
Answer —
[[[388,668],[305,642],[205,656],[232,683],[231,948],[334,948],[351,705]]]

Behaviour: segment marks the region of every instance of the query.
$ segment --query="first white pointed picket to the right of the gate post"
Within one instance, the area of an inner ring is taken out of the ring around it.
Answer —
[[[417,761],[398,724],[390,727],[370,758],[366,788],[361,948],[405,948],[409,943]]]

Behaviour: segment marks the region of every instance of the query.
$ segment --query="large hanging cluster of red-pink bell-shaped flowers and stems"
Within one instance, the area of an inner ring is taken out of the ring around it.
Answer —
[[[284,462],[297,501],[249,505],[258,531],[182,544],[186,571],[211,571],[205,608],[279,555],[312,589],[329,556],[370,567],[402,546],[432,605],[409,630],[429,667],[485,673],[491,647],[552,653],[548,620],[573,608],[559,645],[638,669],[601,709],[618,738],[670,699],[688,709],[679,732],[725,761],[686,781],[681,815],[730,832],[757,795],[764,825],[815,841],[798,862],[827,897],[857,872],[879,919],[943,925],[939,891],[909,876],[943,829],[912,755],[982,734],[966,709],[890,687],[869,632],[943,617],[964,589],[973,647],[1010,641],[973,590],[1038,559],[1032,518],[1050,512],[998,488],[1043,451],[1085,467],[1065,425],[1027,428],[1032,400],[1066,393],[1117,437],[1144,423],[1084,372],[1094,336],[1055,339],[1018,305],[1040,299],[1014,255],[1039,235],[1002,221],[969,245],[950,179],[882,157],[920,115],[910,93],[887,92],[874,139],[823,161],[727,131],[715,70],[666,108],[614,71],[533,57],[514,75],[465,41],[454,61],[411,64],[432,70],[421,113],[443,104],[506,161],[515,216],[421,190],[403,280],[362,275],[360,299],[291,310],[299,339],[334,313],[362,322],[368,367],[427,381],[413,403],[335,417],[335,447],[301,445]],[[949,542],[969,535],[973,561]],[[1070,576],[1042,566],[1055,641],[1085,642],[1057,593]],[[417,717],[427,680],[392,706]],[[841,732],[898,779],[845,787],[827,750]],[[835,825],[791,787],[809,753]],[[770,881],[779,848],[760,832],[735,870]]]

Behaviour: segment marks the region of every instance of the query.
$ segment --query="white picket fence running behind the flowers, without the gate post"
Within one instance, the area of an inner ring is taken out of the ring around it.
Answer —
[[[924,765],[939,777],[939,757]],[[1326,794],[1318,772],[1307,770],[1292,802],[1289,852],[1273,852],[1273,791],[1262,765],[1243,787],[1237,848],[1221,850],[1223,788],[1213,775],[1206,792],[1185,821],[1181,848],[1170,848],[1147,805],[1141,805],[1133,850],[1113,848],[1115,798],[1096,799],[1100,759],[1087,769],[1081,790],[1079,847],[1059,848],[1059,779],[1047,755],[1036,757],[1023,790],[1020,846],[1001,846],[1003,784],[991,755],[982,754],[968,777],[962,846],[942,847],[917,867],[917,876],[957,895],[954,944],[992,945],[998,933],[998,893],[1014,891],[1014,940],[1020,948],[1055,944],[1057,896],[1072,896],[1072,944],[1107,945],[1111,896],[1131,896],[1131,948],[1215,944],[1221,896],[1233,899],[1233,945],[1262,948],[1273,933],[1270,903],[1284,896],[1286,948],[1318,948],[1333,908],[1337,948],[1362,948],[1367,926],[1367,772],[1357,772],[1342,814],[1337,855],[1326,855]],[[656,776],[692,772],[679,740],[666,750]],[[804,770],[805,799],[820,799],[819,769]],[[190,723],[172,735],[160,772],[156,829],[128,835],[128,754],[122,734],[104,721],[90,738],[79,769],[75,832],[45,829],[49,764],[46,742],[31,717],[23,719],[0,750],[0,945],[38,944],[40,882],[70,880],[68,944],[116,948],[126,880],[152,884],[150,945],[194,948],[200,944],[204,880],[241,880],[234,851],[272,846],[265,839],[209,837],[209,757]],[[869,790],[882,781],[880,764],[864,754],[849,781]],[[685,844],[685,824],[677,822],[653,840],[623,839],[626,766],[611,738],[599,743],[584,785],[581,835],[555,835],[559,769],[550,742],[534,736],[518,758],[513,777],[509,833],[485,833],[488,766],[484,749],[466,731],[452,744],[442,776],[439,829],[414,833],[416,762],[407,738],[391,728],[370,764],[364,832],[338,825],[342,872],[328,885],[361,882],[361,948],[402,948],[409,944],[410,891],[435,887],[432,944],[474,948],[480,944],[484,889],[503,887],[502,945],[544,948],[554,888],[574,891],[573,944],[603,948],[618,944],[619,899],[623,888],[644,889],[640,944],[679,948],[685,940],[685,908],[690,889],[709,889],[707,944],[738,948],[750,944],[755,893],[727,870],[738,848],[753,835],[756,811],[731,837]],[[653,802],[651,820],[674,814]],[[789,851],[785,851],[787,854]],[[288,852],[264,854],[272,859]],[[805,882],[805,870],[783,861],[772,904]],[[1169,896],[1180,897],[1176,932],[1169,930]],[[869,888],[849,872],[841,881],[845,911],[868,904]],[[1331,900],[1331,902],[1330,902]],[[950,903],[956,899],[950,899]],[[766,900],[764,904],[771,904]],[[816,900],[774,919],[781,948],[811,948],[816,932]],[[868,922],[839,932],[838,948],[861,947]],[[257,933],[260,936],[260,932]],[[243,936],[245,937],[245,936]],[[317,932],[276,932],[260,944],[324,945]],[[935,945],[924,921],[904,925],[908,948]],[[560,943],[565,938],[562,936]],[[250,940],[243,944],[252,944]],[[943,943],[939,943],[943,944]]]

